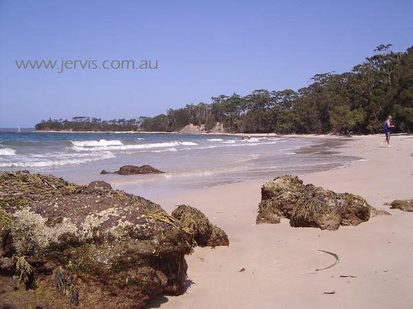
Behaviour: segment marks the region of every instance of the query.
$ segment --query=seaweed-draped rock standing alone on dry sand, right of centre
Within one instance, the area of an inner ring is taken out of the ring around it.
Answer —
[[[361,196],[304,185],[297,176],[280,176],[268,181],[261,193],[257,224],[279,223],[280,218],[288,218],[293,227],[335,230],[340,225],[366,222],[374,209]]]

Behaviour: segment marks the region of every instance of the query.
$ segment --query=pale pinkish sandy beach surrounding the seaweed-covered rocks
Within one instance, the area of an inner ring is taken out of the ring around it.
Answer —
[[[381,148],[381,141],[353,137],[338,150],[366,161],[302,177],[304,183],[360,194],[392,214],[357,227],[321,231],[290,227],[287,220],[255,225],[265,180],[156,201],[169,212],[180,204],[197,207],[228,233],[231,244],[195,248],[187,256],[187,292],[160,297],[148,308],[411,308],[413,214],[383,204],[413,197],[413,137],[392,137],[393,148]],[[318,250],[336,253],[339,263],[316,272],[335,261]]]

